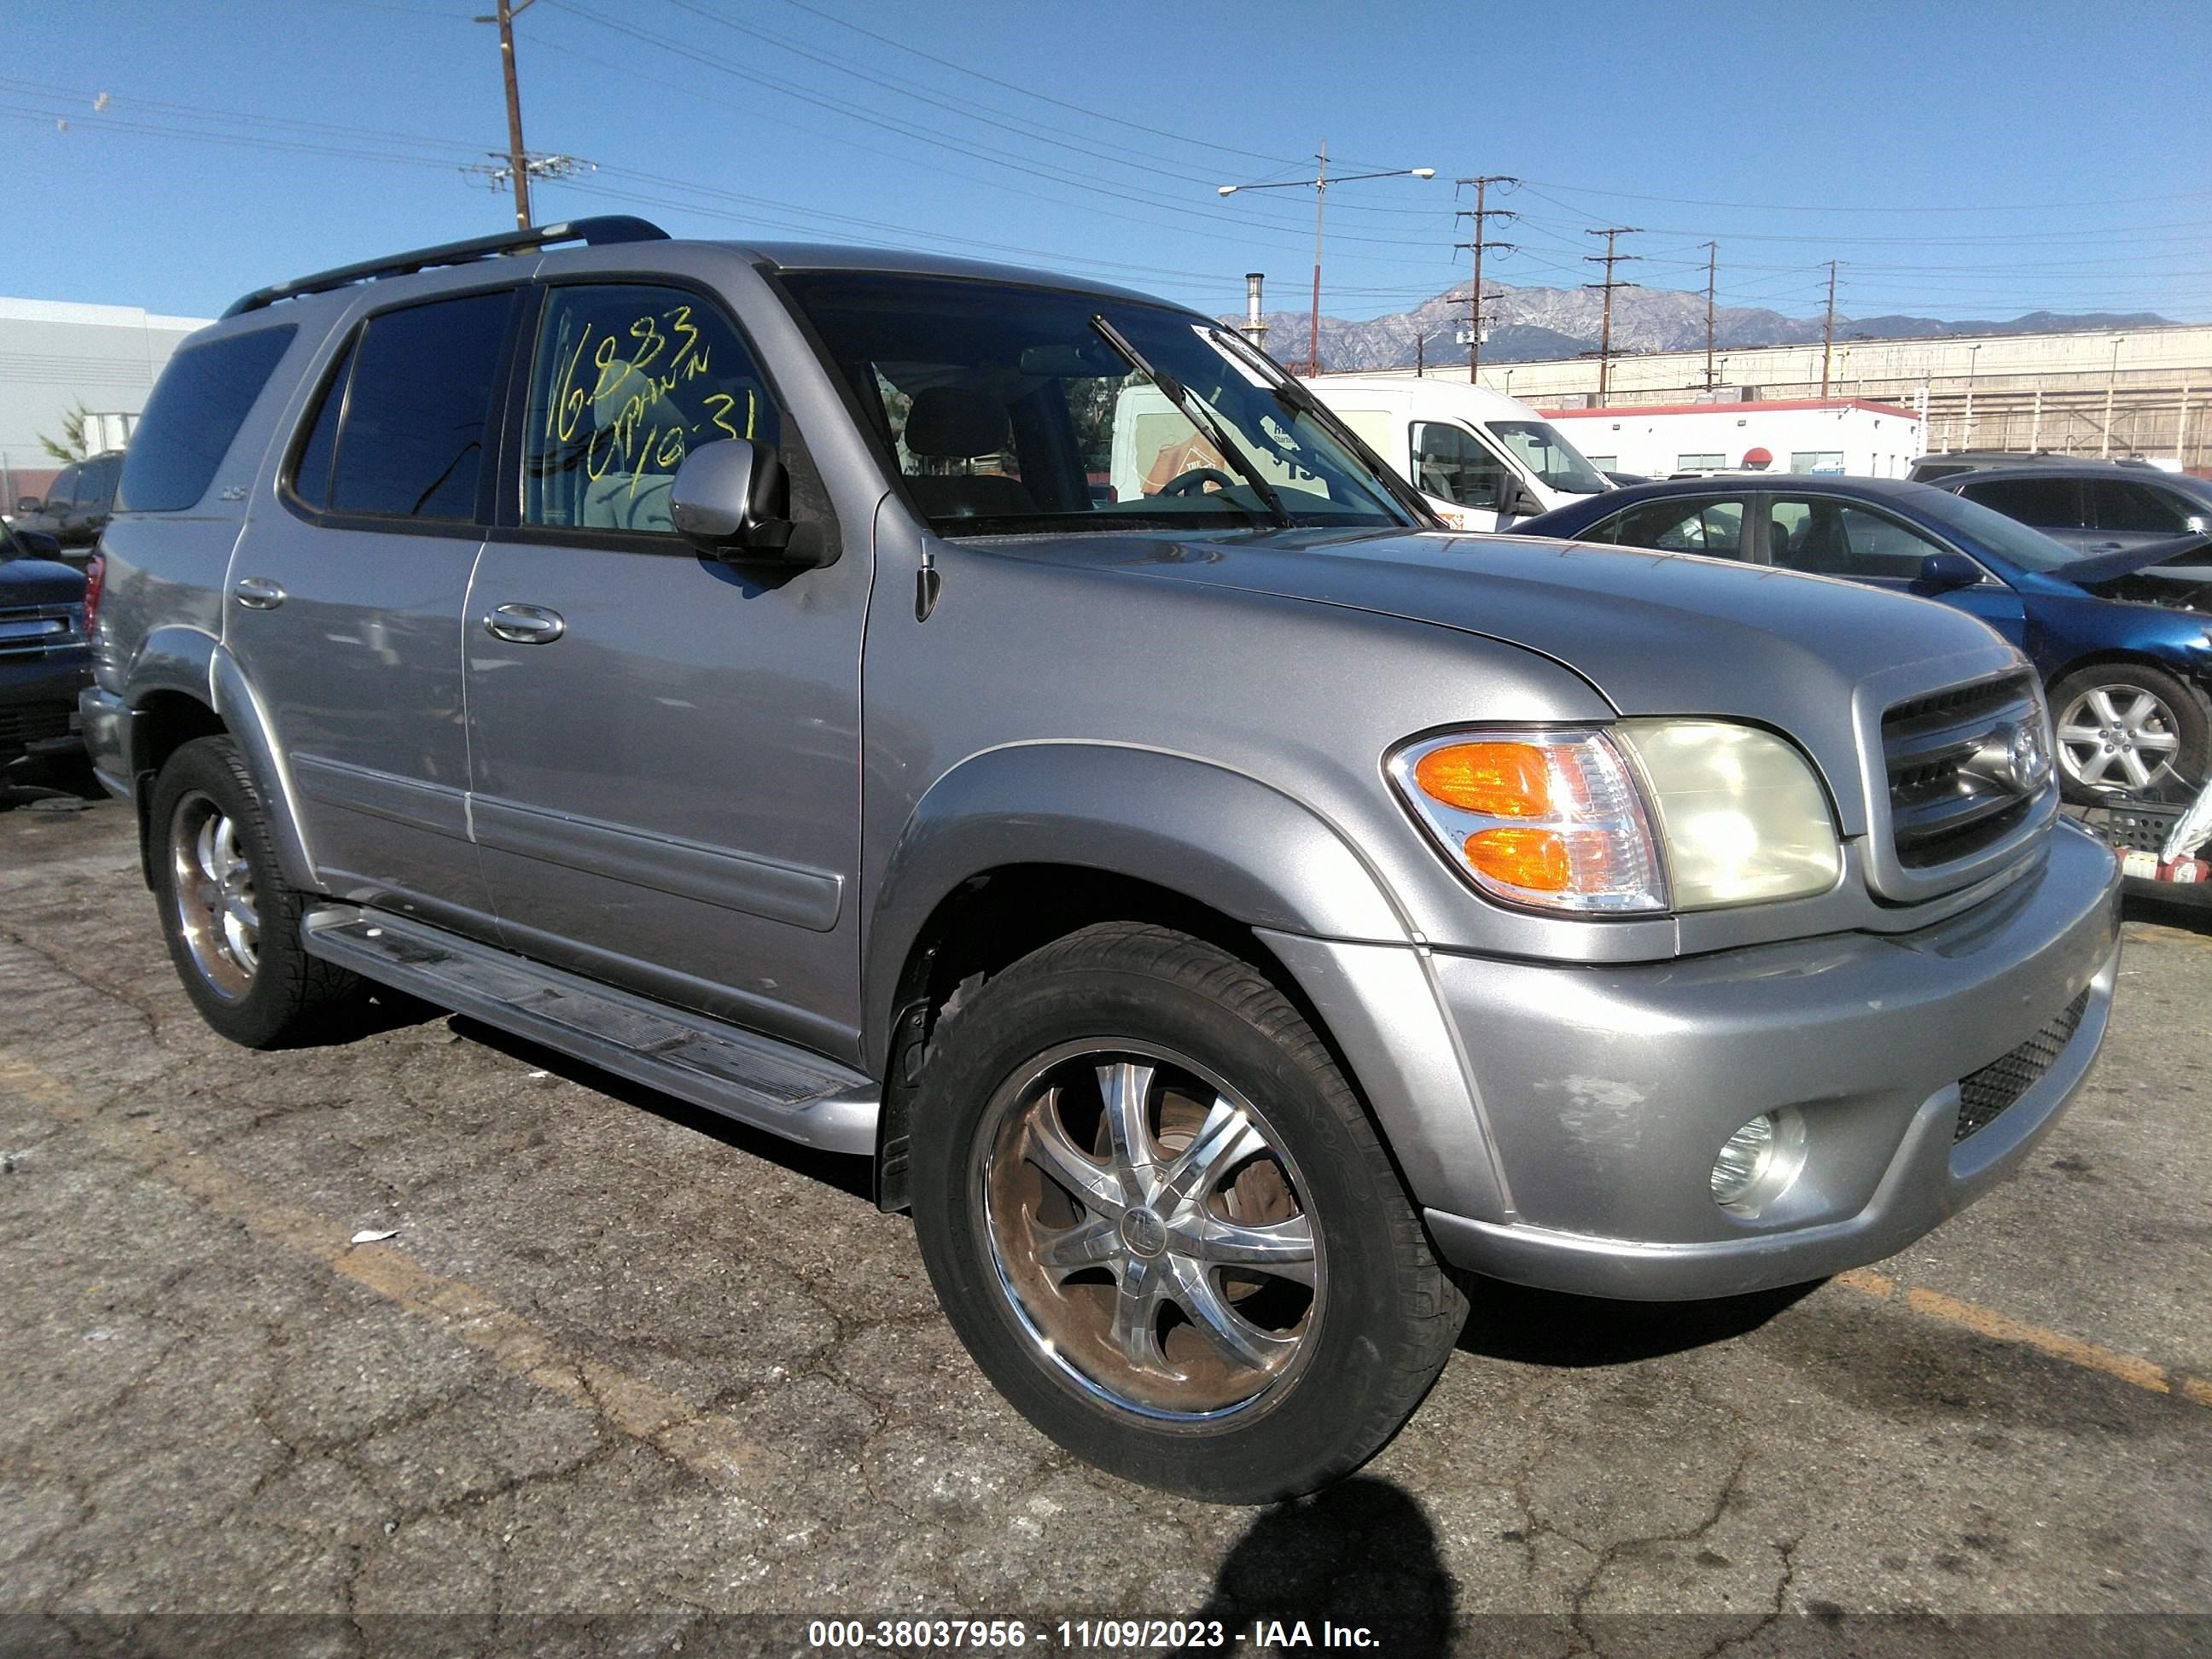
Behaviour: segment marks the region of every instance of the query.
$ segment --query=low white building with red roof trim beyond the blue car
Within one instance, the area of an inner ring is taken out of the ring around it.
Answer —
[[[1542,414],[1599,471],[1646,478],[1736,467],[1905,478],[1922,453],[1924,431],[1911,409],[1863,398],[1657,403]]]

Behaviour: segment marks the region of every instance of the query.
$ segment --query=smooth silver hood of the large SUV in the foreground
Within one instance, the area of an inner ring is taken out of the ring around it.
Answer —
[[[1688,553],[1433,531],[1068,535],[1002,549],[1455,628],[1551,657],[1621,714],[1778,728],[1849,803],[1847,834],[1860,827],[1860,712],[1878,719],[1902,697],[2022,664],[1951,606]]]

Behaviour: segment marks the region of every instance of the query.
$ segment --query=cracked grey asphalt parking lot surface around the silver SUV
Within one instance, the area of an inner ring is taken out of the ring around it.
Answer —
[[[606,1615],[611,1652],[803,1652],[920,1613],[2212,1648],[2112,1617],[2212,1613],[2212,920],[2130,914],[2086,1093],[1905,1256],[1692,1307],[1475,1285],[1358,1480],[1245,1511],[1035,1436],[856,1164],[411,1006],[223,1044],[128,812],[51,805],[0,810],[0,1648],[535,1652],[566,1626],[524,1615]]]

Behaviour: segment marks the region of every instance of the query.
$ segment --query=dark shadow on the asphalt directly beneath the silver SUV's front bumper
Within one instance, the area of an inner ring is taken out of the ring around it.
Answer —
[[[1467,1325],[1460,1352],[1555,1369],[1632,1365],[1747,1336],[1823,1283],[1814,1279],[1697,1303],[1624,1303],[1462,1274]]]

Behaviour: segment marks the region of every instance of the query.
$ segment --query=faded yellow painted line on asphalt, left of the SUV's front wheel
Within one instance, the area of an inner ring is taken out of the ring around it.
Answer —
[[[465,1279],[447,1279],[389,1243],[352,1243],[343,1223],[283,1203],[215,1159],[192,1152],[144,1119],[106,1115],[60,1077],[0,1053],[0,1093],[82,1130],[144,1175],[237,1221],[257,1239],[312,1256],[341,1279],[383,1296],[473,1347],[509,1376],[597,1411],[615,1429],[657,1447],[703,1475],[757,1486],[779,1480],[781,1460],[728,1418],[644,1378],[564,1349],[549,1332],[502,1307]]]

